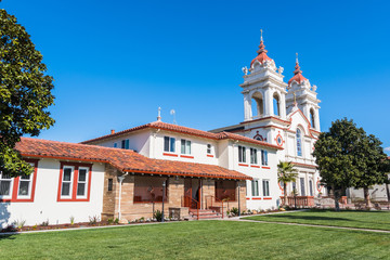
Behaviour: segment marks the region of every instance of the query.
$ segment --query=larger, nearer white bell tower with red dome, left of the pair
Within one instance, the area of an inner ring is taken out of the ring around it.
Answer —
[[[266,55],[262,30],[257,56],[250,67],[243,67],[244,121],[265,117],[286,119],[286,87],[283,81],[283,67]]]

